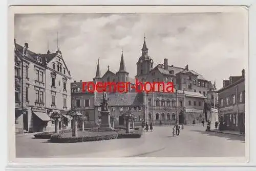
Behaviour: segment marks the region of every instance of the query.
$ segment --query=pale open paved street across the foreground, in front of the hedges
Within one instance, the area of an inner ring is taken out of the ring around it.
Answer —
[[[245,137],[206,132],[200,125],[184,126],[178,137],[171,127],[154,127],[139,139],[80,143],[49,143],[33,135],[16,137],[17,157],[242,157]]]

